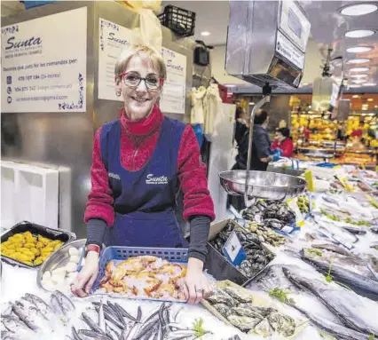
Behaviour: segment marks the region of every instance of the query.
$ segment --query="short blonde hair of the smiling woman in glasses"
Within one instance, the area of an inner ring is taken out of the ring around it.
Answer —
[[[120,79],[120,75],[124,72],[129,61],[134,56],[144,56],[148,59],[151,59],[153,66],[159,70],[159,77],[166,79],[167,77],[167,66],[165,65],[164,59],[161,58],[161,54],[156,51],[153,47],[143,45],[143,44],[134,44],[130,45],[127,50],[122,51],[119,59],[115,63],[114,67],[114,76],[115,81]]]

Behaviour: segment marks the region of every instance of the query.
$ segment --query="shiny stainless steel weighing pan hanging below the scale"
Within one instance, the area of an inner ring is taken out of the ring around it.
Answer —
[[[230,170],[219,174],[221,185],[228,194],[244,195],[246,170]],[[307,182],[303,178],[274,172],[249,171],[248,197],[278,201],[303,194]]]

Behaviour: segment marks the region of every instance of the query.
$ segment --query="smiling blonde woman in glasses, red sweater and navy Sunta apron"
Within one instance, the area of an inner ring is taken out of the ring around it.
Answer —
[[[199,303],[209,294],[203,275],[214,205],[206,165],[190,125],[161,114],[157,102],[166,79],[160,54],[132,46],[115,65],[120,119],[104,124],[93,146],[91,193],[85,210],[87,255],[72,291],[88,295],[98,275],[99,247],[186,247],[174,213],[178,184],[184,217],[191,223],[185,297]]]

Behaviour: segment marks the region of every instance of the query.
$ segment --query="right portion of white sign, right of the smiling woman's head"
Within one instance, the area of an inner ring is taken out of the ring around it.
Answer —
[[[167,64],[167,80],[164,83],[160,107],[162,112],[185,114],[186,57],[166,48],[161,50]]]

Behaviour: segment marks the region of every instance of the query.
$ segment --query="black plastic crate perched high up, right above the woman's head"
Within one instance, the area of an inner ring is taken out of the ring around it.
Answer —
[[[168,4],[159,15],[162,26],[169,28],[177,36],[194,36],[195,13]]]

